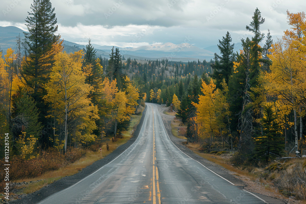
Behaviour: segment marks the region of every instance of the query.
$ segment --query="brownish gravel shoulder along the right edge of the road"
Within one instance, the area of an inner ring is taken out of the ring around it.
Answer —
[[[174,119],[174,116],[166,115],[163,112],[167,110],[165,106],[157,105],[159,109],[160,116],[162,117],[162,121],[166,128],[166,131],[170,137],[170,140],[179,148],[182,152],[187,154],[189,157],[193,158],[196,161],[199,161],[208,169],[212,170],[213,172],[217,173],[218,175],[222,176],[226,180],[229,180],[233,184],[237,185],[238,187],[252,192],[254,195],[265,200],[267,203],[271,204],[285,204],[285,203],[300,203],[293,198],[286,198],[278,193],[267,191],[259,181],[252,181],[250,178],[246,176],[237,176],[235,172],[229,171],[223,168],[220,165],[215,164],[214,162],[208,161],[200,157],[199,155],[193,153],[188,147],[182,144],[182,142],[186,142],[185,139],[179,139],[175,137],[171,132],[171,121]]]

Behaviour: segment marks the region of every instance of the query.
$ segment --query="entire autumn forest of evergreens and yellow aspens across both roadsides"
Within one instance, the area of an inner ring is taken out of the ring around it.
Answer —
[[[188,142],[203,148],[219,142],[255,164],[305,154],[306,19],[287,15],[291,28],[274,42],[256,9],[240,53],[227,32],[210,61],[131,59],[114,47],[102,58],[91,39],[63,52],[54,8],[34,0],[25,40],[0,52],[0,146],[9,133],[11,155],[22,161],[87,149],[120,137],[138,106],[152,102],[173,103]]]

